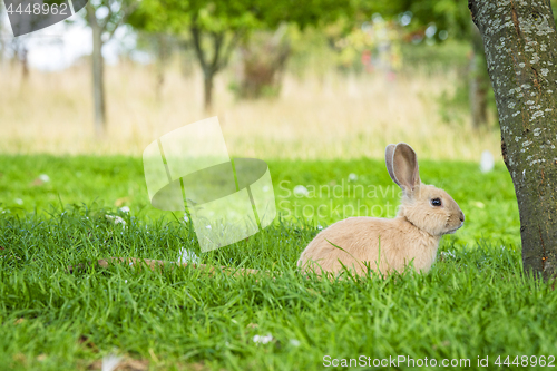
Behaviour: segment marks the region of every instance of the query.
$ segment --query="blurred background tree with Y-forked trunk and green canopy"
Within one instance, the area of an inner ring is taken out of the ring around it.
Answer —
[[[282,21],[314,25],[334,19],[346,7],[334,0],[310,0],[302,7],[291,0],[143,0],[129,22],[138,29],[190,38],[203,71],[204,106],[211,110],[214,77],[252,30],[275,28]]]

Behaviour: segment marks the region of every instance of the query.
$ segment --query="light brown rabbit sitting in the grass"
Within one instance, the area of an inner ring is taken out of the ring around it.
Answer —
[[[398,216],[350,217],[332,224],[304,250],[300,267],[338,273],[344,265],[358,274],[365,274],[367,265],[382,274],[402,272],[410,263],[418,272],[431,269],[442,235],[460,228],[465,214],[447,192],[420,182],[416,153],[405,143],[387,146],[385,163],[403,191]]]

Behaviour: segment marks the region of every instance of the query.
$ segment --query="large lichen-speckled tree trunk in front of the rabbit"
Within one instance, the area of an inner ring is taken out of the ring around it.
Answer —
[[[522,263],[557,274],[557,32],[549,0],[469,0],[483,38],[502,158],[520,213]]]

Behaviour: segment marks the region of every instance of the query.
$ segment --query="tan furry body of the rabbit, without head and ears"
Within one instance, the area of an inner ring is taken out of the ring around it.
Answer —
[[[339,272],[344,265],[362,274],[368,271],[368,264],[381,273],[401,272],[413,260],[418,271],[429,271],[438,243],[439,237],[418,230],[404,217],[350,217],[317,234],[297,264],[304,269],[313,266],[316,272],[321,269]]]

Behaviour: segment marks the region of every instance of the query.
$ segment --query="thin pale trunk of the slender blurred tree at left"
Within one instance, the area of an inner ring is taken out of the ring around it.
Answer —
[[[102,58],[102,29],[95,18],[95,9],[87,4],[89,26],[92,31],[92,97],[95,109],[95,134],[98,138],[106,133],[105,109],[105,60]]]

